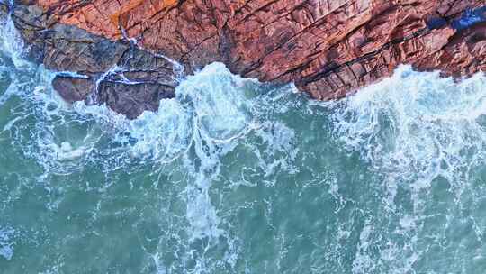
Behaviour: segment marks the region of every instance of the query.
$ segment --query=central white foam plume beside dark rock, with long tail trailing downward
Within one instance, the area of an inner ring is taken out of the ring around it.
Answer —
[[[208,249],[224,239],[230,247],[225,254],[230,265],[236,263],[238,246],[221,226],[224,221],[212,205],[210,189],[212,181],[220,175],[221,157],[254,129],[248,111],[252,102],[245,97],[246,81],[252,80],[232,75],[220,63],[211,64],[184,79],[176,88],[176,97],[162,100],[157,113],[144,112],[132,121],[114,114],[105,105],[76,103],[73,107],[78,114],[111,124],[116,132],[128,133],[131,142],[125,148],[130,157],[156,161],[161,167],[175,162],[184,165],[190,176],[183,193],[189,246],[203,240]],[[127,134],[117,136],[122,139]],[[283,135],[283,143],[285,138]],[[69,153],[68,156],[73,152],[67,143],[56,151]],[[158,255],[153,256],[158,271],[163,273],[165,268],[160,265]],[[194,273],[211,269],[210,259],[198,251],[193,250],[187,256],[196,262]]]

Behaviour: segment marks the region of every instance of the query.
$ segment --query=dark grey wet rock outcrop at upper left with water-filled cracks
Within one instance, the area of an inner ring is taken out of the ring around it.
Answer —
[[[29,57],[59,71],[53,87],[67,102],[106,104],[136,118],[157,111],[161,98],[175,96],[175,64],[129,41],[110,41],[63,23],[37,5],[15,5],[15,26]]]

